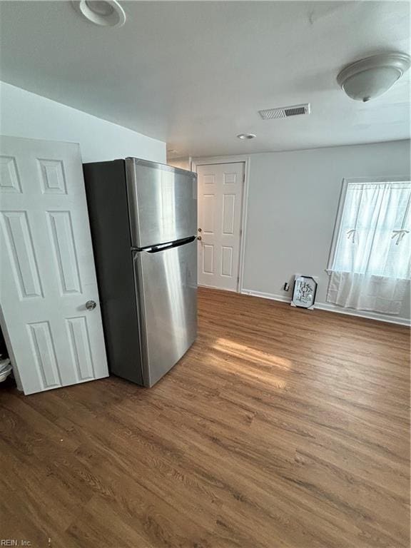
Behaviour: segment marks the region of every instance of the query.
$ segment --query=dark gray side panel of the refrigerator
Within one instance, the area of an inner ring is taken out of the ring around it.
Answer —
[[[142,385],[124,161],[86,163],[83,171],[108,366]]]

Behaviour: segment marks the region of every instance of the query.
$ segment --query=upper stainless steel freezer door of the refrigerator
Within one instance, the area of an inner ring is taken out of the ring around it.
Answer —
[[[196,173],[126,158],[126,178],[133,248],[197,233]]]

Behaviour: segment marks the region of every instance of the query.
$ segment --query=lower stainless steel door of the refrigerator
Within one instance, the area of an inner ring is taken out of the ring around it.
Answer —
[[[197,335],[197,241],[134,252],[144,386],[153,386]]]

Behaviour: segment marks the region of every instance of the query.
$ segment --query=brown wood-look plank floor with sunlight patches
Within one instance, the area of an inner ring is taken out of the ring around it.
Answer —
[[[409,330],[200,291],[150,390],[0,385],[0,538],[32,547],[408,548]]]

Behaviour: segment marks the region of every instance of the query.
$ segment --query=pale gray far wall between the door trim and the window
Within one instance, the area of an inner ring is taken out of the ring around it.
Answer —
[[[409,174],[410,141],[251,155],[243,290],[286,298],[284,282],[303,273],[318,276],[325,303],[342,179]]]

